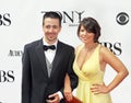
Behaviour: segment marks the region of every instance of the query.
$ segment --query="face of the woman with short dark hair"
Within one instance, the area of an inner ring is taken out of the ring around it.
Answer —
[[[94,43],[94,33],[88,33],[83,25],[80,27],[79,37],[85,44]]]

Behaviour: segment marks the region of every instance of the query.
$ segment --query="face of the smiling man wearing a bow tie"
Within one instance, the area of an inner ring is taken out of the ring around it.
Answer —
[[[45,33],[45,41],[47,43],[55,43],[61,30],[58,19],[46,18],[43,26]]]

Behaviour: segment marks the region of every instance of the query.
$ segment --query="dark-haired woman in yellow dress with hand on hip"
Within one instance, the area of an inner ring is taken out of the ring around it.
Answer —
[[[79,77],[76,98],[83,103],[112,103],[109,92],[128,76],[126,66],[108,48],[99,44],[100,26],[95,19],[83,19],[78,27],[78,36],[83,44],[76,47],[73,64],[73,70]],[[117,75],[106,85],[104,75],[107,64]],[[69,81],[67,75],[64,95],[71,101]]]

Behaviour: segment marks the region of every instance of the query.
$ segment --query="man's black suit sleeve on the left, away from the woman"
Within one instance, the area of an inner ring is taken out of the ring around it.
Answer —
[[[22,56],[22,103],[31,103],[32,76],[29,55],[26,46]]]

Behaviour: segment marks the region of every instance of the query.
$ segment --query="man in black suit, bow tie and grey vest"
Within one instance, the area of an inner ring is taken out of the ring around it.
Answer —
[[[46,12],[43,18],[44,37],[24,46],[22,103],[64,103],[67,73],[72,90],[78,85],[78,77],[72,69],[74,48],[58,39],[61,20],[59,12]]]

